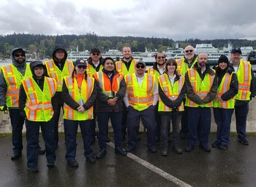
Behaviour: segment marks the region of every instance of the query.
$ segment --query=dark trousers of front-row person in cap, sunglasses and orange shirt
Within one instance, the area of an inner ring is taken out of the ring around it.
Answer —
[[[65,158],[67,161],[74,160],[76,156],[78,124],[83,137],[84,156],[88,157],[93,155],[93,152],[91,151],[91,120],[74,121],[64,119],[65,144],[67,148]]]

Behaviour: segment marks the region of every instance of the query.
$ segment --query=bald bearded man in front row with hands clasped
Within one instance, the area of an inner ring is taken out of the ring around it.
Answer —
[[[200,140],[199,148],[211,152],[208,147],[208,135],[211,131],[211,107],[217,94],[217,79],[215,71],[207,63],[208,56],[201,52],[197,63],[189,68],[185,74],[187,98],[185,106],[188,112],[187,148],[190,152],[195,146],[197,138]],[[198,133],[197,133],[198,130]]]

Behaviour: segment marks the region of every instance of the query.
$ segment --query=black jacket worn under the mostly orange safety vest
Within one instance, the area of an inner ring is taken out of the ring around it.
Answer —
[[[103,73],[106,73],[104,69],[102,69]],[[113,76],[116,76],[118,72],[116,70],[113,71]],[[111,83],[112,80],[110,79]],[[99,87],[99,82],[95,79],[96,85],[97,85],[97,100],[96,100],[96,108],[97,112],[119,112],[123,111],[123,103],[122,100],[125,96],[126,90],[127,90],[127,84],[125,83],[124,79],[120,82],[120,87],[116,95],[113,95],[113,97],[117,97],[117,103],[116,106],[109,106],[107,101],[110,99],[107,95],[105,95],[102,92],[101,87]]]

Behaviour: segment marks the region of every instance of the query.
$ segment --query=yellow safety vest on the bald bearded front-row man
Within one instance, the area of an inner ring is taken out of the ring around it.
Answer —
[[[211,91],[211,86],[214,84],[214,75],[211,75],[210,73],[206,73],[203,80],[201,80],[200,75],[197,73],[195,68],[189,68],[188,70],[189,75],[189,81],[191,83],[191,86],[195,92],[196,95],[198,95],[202,100],[203,98],[206,98],[208,93]],[[197,103],[193,102],[186,96],[186,103],[185,106],[189,107],[211,107],[213,105],[213,102],[210,103],[203,103],[202,105],[198,105]]]

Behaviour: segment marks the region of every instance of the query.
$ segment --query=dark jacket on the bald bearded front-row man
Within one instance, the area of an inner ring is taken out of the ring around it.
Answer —
[[[197,71],[197,73],[199,73],[200,78],[202,80],[206,76],[206,73],[210,73],[211,76],[215,74],[214,70],[212,70],[210,68],[210,65],[208,65],[208,64],[206,64],[206,71],[204,71],[203,74],[201,73],[201,69],[200,69],[200,67],[198,66],[197,63],[195,63],[195,65],[192,68],[195,68],[195,70]],[[185,83],[186,83],[186,88],[187,88],[187,97],[190,100],[192,100],[193,102],[197,103],[198,105],[202,105],[203,103],[210,103],[211,101],[214,100],[214,98],[217,94],[218,84],[217,84],[216,76],[214,78],[214,83],[211,86],[210,92],[208,92],[208,95],[206,96],[206,98],[203,98],[203,100],[199,97],[199,95],[195,94],[195,91],[192,88],[192,85],[191,85],[190,80],[189,80],[188,71],[185,74]]]

